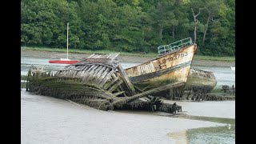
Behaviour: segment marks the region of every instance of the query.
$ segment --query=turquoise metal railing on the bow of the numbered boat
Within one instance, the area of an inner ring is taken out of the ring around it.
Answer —
[[[179,50],[184,46],[190,46],[192,45],[192,43],[193,42],[191,38],[184,38],[177,42],[170,43],[169,45],[158,46],[158,54],[162,55],[162,54],[170,53],[172,51]]]

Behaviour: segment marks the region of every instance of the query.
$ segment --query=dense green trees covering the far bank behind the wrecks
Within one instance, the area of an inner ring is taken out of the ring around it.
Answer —
[[[234,0],[22,0],[21,45],[127,52],[191,37],[198,54],[234,56]],[[195,39],[196,38],[196,39]]]

